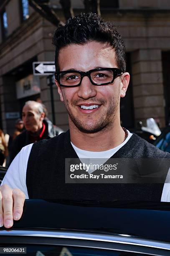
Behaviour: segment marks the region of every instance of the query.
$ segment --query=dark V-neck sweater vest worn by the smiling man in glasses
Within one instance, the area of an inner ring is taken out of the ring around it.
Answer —
[[[71,146],[69,131],[33,144],[26,173],[29,198],[99,201],[161,200],[163,183],[65,183],[65,158],[78,158]],[[170,154],[133,134],[112,158],[170,158]]]

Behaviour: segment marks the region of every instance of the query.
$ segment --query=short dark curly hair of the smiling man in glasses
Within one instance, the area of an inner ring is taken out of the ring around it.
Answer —
[[[102,20],[94,13],[81,13],[69,18],[65,26],[56,29],[53,36],[53,44],[56,46],[56,72],[59,71],[58,53],[62,47],[69,44],[87,44],[89,41],[108,43],[115,50],[118,68],[125,72],[125,47],[122,37],[112,23]]]

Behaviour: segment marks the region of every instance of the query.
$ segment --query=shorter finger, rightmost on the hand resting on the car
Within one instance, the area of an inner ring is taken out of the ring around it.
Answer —
[[[13,219],[19,220],[23,213],[25,195],[20,189],[15,188],[13,189],[13,199],[14,199]]]

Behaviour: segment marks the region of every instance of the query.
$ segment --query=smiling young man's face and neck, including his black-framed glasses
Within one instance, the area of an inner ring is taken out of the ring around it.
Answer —
[[[71,142],[89,151],[120,145],[125,133],[120,125],[119,101],[125,96],[129,73],[118,68],[114,49],[97,41],[71,44],[59,51],[58,64],[56,84],[69,113]]]

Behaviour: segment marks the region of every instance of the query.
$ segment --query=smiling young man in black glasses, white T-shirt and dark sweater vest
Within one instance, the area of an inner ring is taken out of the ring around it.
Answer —
[[[170,154],[120,125],[119,102],[126,94],[129,73],[125,72],[123,41],[112,23],[92,13],[78,15],[56,30],[53,44],[56,85],[69,114],[70,130],[48,141],[30,144],[15,157],[0,187],[0,212],[4,212],[0,215],[1,225],[9,228],[13,218],[21,217],[25,197],[103,201],[166,197],[168,191],[162,194],[163,184],[65,182],[67,158],[107,161],[170,158]]]

